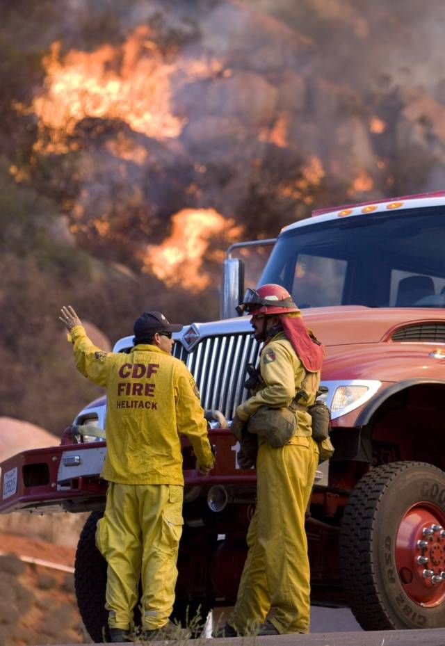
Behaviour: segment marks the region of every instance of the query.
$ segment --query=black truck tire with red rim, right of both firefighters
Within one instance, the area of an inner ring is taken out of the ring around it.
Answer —
[[[357,483],[341,523],[340,567],[363,629],[445,627],[444,527],[441,469],[391,462]]]

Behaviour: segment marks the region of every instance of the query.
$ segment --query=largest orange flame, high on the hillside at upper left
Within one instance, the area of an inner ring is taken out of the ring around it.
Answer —
[[[51,132],[51,143],[36,145],[44,152],[65,152],[63,145],[85,117],[120,119],[134,131],[156,139],[176,137],[184,122],[172,115],[170,75],[149,27],[138,26],[119,47],[102,45],[95,51],[69,51],[60,56],[60,42],[43,59],[45,92],[32,109],[40,129]]]

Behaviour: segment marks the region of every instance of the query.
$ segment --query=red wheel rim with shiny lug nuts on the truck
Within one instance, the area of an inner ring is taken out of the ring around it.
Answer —
[[[398,576],[408,597],[419,606],[438,606],[445,599],[444,528],[445,512],[427,502],[407,510],[398,528]]]

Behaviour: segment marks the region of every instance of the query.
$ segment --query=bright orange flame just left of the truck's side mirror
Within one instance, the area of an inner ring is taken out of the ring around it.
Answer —
[[[172,216],[172,233],[161,245],[147,245],[143,271],[156,275],[167,286],[181,284],[184,289],[202,291],[210,278],[202,273],[204,256],[221,260],[220,250],[208,253],[210,239],[223,236],[225,246],[238,239],[243,227],[224,218],[215,209],[183,209]]]

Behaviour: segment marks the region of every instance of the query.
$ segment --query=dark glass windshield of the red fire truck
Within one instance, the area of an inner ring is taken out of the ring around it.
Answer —
[[[259,284],[299,307],[445,307],[445,207],[336,218],[283,232]]]

